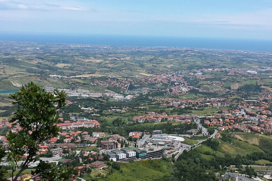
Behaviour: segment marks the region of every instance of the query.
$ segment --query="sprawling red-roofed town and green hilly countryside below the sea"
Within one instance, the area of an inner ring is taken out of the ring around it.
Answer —
[[[17,180],[41,180],[31,171],[44,163],[71,168],[70,180],[179,180],[195,170],[214,180],[272,178],[270,52],[4,44],[10,47],[0,48],[6,180],[29,158],[26,147],[16,167],[8,160],[8,135],[25,130],[11,121],[17,112],[10,96],[29,82],[44,94],[62,92],[65,105],[53,104],[58,132],[37,145]]]

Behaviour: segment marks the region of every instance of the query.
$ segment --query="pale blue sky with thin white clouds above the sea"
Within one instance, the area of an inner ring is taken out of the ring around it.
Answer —
[[[272,40],[271,0],[0,0],[0,34]]]

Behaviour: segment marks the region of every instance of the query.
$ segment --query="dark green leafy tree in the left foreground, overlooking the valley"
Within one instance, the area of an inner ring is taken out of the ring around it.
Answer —
[[[28,168],[31,162],[36,161],[35,155],[38,145],[58,135],[60,129],[57,127],[57,123],[60,120],[57,109],[65,105],[66,93],[59,92],[57,89],[53,94],[48,93],[31,82],[22,86],[20,91],[12,94],[9,98],[14,99],[13,104],[16,105],[10,123],[21,128],[18,133],[10,131],[7,135],[9,141],[7,160],[12,169],[12,180],[17,180],[22,171]],[[18,162],[22,160],[24,155],[27,155],[26,159],[19,167]],[[19,168],[20,170],[16,173],[15,171]],[[55,168],[41,160],[37,169],[32,172],[32,174],[35,173],[46,180],[61,178],[70,180],[72,175],[66,166]]]

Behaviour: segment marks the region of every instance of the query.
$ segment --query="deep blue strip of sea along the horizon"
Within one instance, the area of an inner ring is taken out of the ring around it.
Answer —
[[[165,46],[178,48],[205,48],[272,52],[272,40],[265,39],[188,38],[174,36],[132,35],[51,35],[0,32],[0,41],[69,43],[110,46]]]

